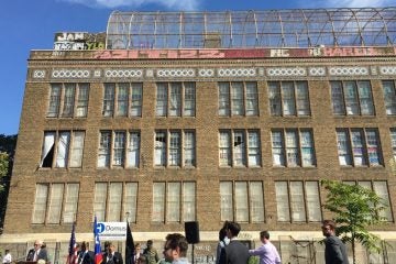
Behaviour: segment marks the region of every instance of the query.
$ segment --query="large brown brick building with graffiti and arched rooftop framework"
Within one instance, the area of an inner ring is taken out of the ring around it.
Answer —
[[[395,14],[113,12],[106,33],[56,34],[30,54],[0,243],[23,257],[41,238],[63,262],[73,221],[92,241],[95,215],[128,217],[157,249],[198,221],[211,263],[235,220],[250,246],[267,229],[285,263],[322,263],[327,178],[383,197],[373,231],[394,243]]]

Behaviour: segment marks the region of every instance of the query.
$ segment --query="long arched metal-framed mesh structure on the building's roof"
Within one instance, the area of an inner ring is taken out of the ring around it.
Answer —
[[[108,48],[392,46],[396,8],[110,14]]]

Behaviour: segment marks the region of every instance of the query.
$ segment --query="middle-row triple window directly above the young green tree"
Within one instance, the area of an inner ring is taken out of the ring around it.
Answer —
[[[341,166],[383,165],[377,129],[337,129]]]

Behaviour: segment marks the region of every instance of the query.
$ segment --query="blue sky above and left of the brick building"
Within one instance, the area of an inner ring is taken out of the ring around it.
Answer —
[[[396,0],[3,0],[0,15],[0,134],[16,134],[31,50],[52,50],[55,32],[103,32],[122,11],[222,11],[395,7]]]

